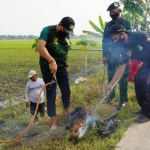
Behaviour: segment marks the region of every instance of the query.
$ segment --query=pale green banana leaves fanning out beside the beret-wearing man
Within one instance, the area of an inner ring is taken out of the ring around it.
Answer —
[[[104,28],[107,22],[104,22],[101,16],[98,16],[98,20],[99,20],[99,24],[100,27],[98,27],[97,25],[95,25],[91,20],[89,20],[89,24],[92,26],[92,28],[97,32],[92,32],[92,31],[86,31],[86,30],[82,30],[82,33],[84,34],[88,34],[94,37],[102,37],[104,34]]]

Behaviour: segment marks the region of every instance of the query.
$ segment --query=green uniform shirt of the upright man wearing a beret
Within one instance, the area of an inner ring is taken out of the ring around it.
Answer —
[[[110,47],[113,44],[111,36],[109,35],[109,31],[108,30],[110,29],[110,27],[112,27],[115,24],[123,25],[126,30],[131,30],[130,23],[126,19],[120,18],[117,21],[111,20],[110,22],[108,22],[106,24],[106,26],[105,26],[104,35],[103,35],[103,39],[102,39],[103,57],[107,57],[108,56],[109,49],[110,49]]]

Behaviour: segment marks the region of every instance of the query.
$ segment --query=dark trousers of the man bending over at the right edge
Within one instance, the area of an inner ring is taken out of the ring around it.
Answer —
[[[150,84],[147,83],[149,66],[143,63],[141,69],[134,77],[135,93],[142,114],[150,116]]]

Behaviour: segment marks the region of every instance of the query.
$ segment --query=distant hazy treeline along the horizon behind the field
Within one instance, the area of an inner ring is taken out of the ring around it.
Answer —
[[[38,36],[35,35],[0,35],[0,40],[18,40],[18,39],[35,39]],[[96,37],[92,37],[89,35],[74,35],[70,36],[71,39],[92,39]],[[99,37],[97,37],[99,38]]]

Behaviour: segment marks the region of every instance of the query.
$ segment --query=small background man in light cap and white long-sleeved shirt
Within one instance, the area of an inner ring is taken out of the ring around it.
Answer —
[[[30,99],[30,113],[34,115],[38,95],[45,84],[43,79],[37,77],[35,70],[30,70],[28,72],[28,78],[30,78],[30,81],[28,81],[26,84],[26,91],[25,91],[26,107],[29,107],[29,99]],[[45,107],[44,91],[42,91],[37,111],[37,114],[40,113],[41,117],[44,116],[44,107]],[[35,117],[35,120],[37,120],[37,115]]]

